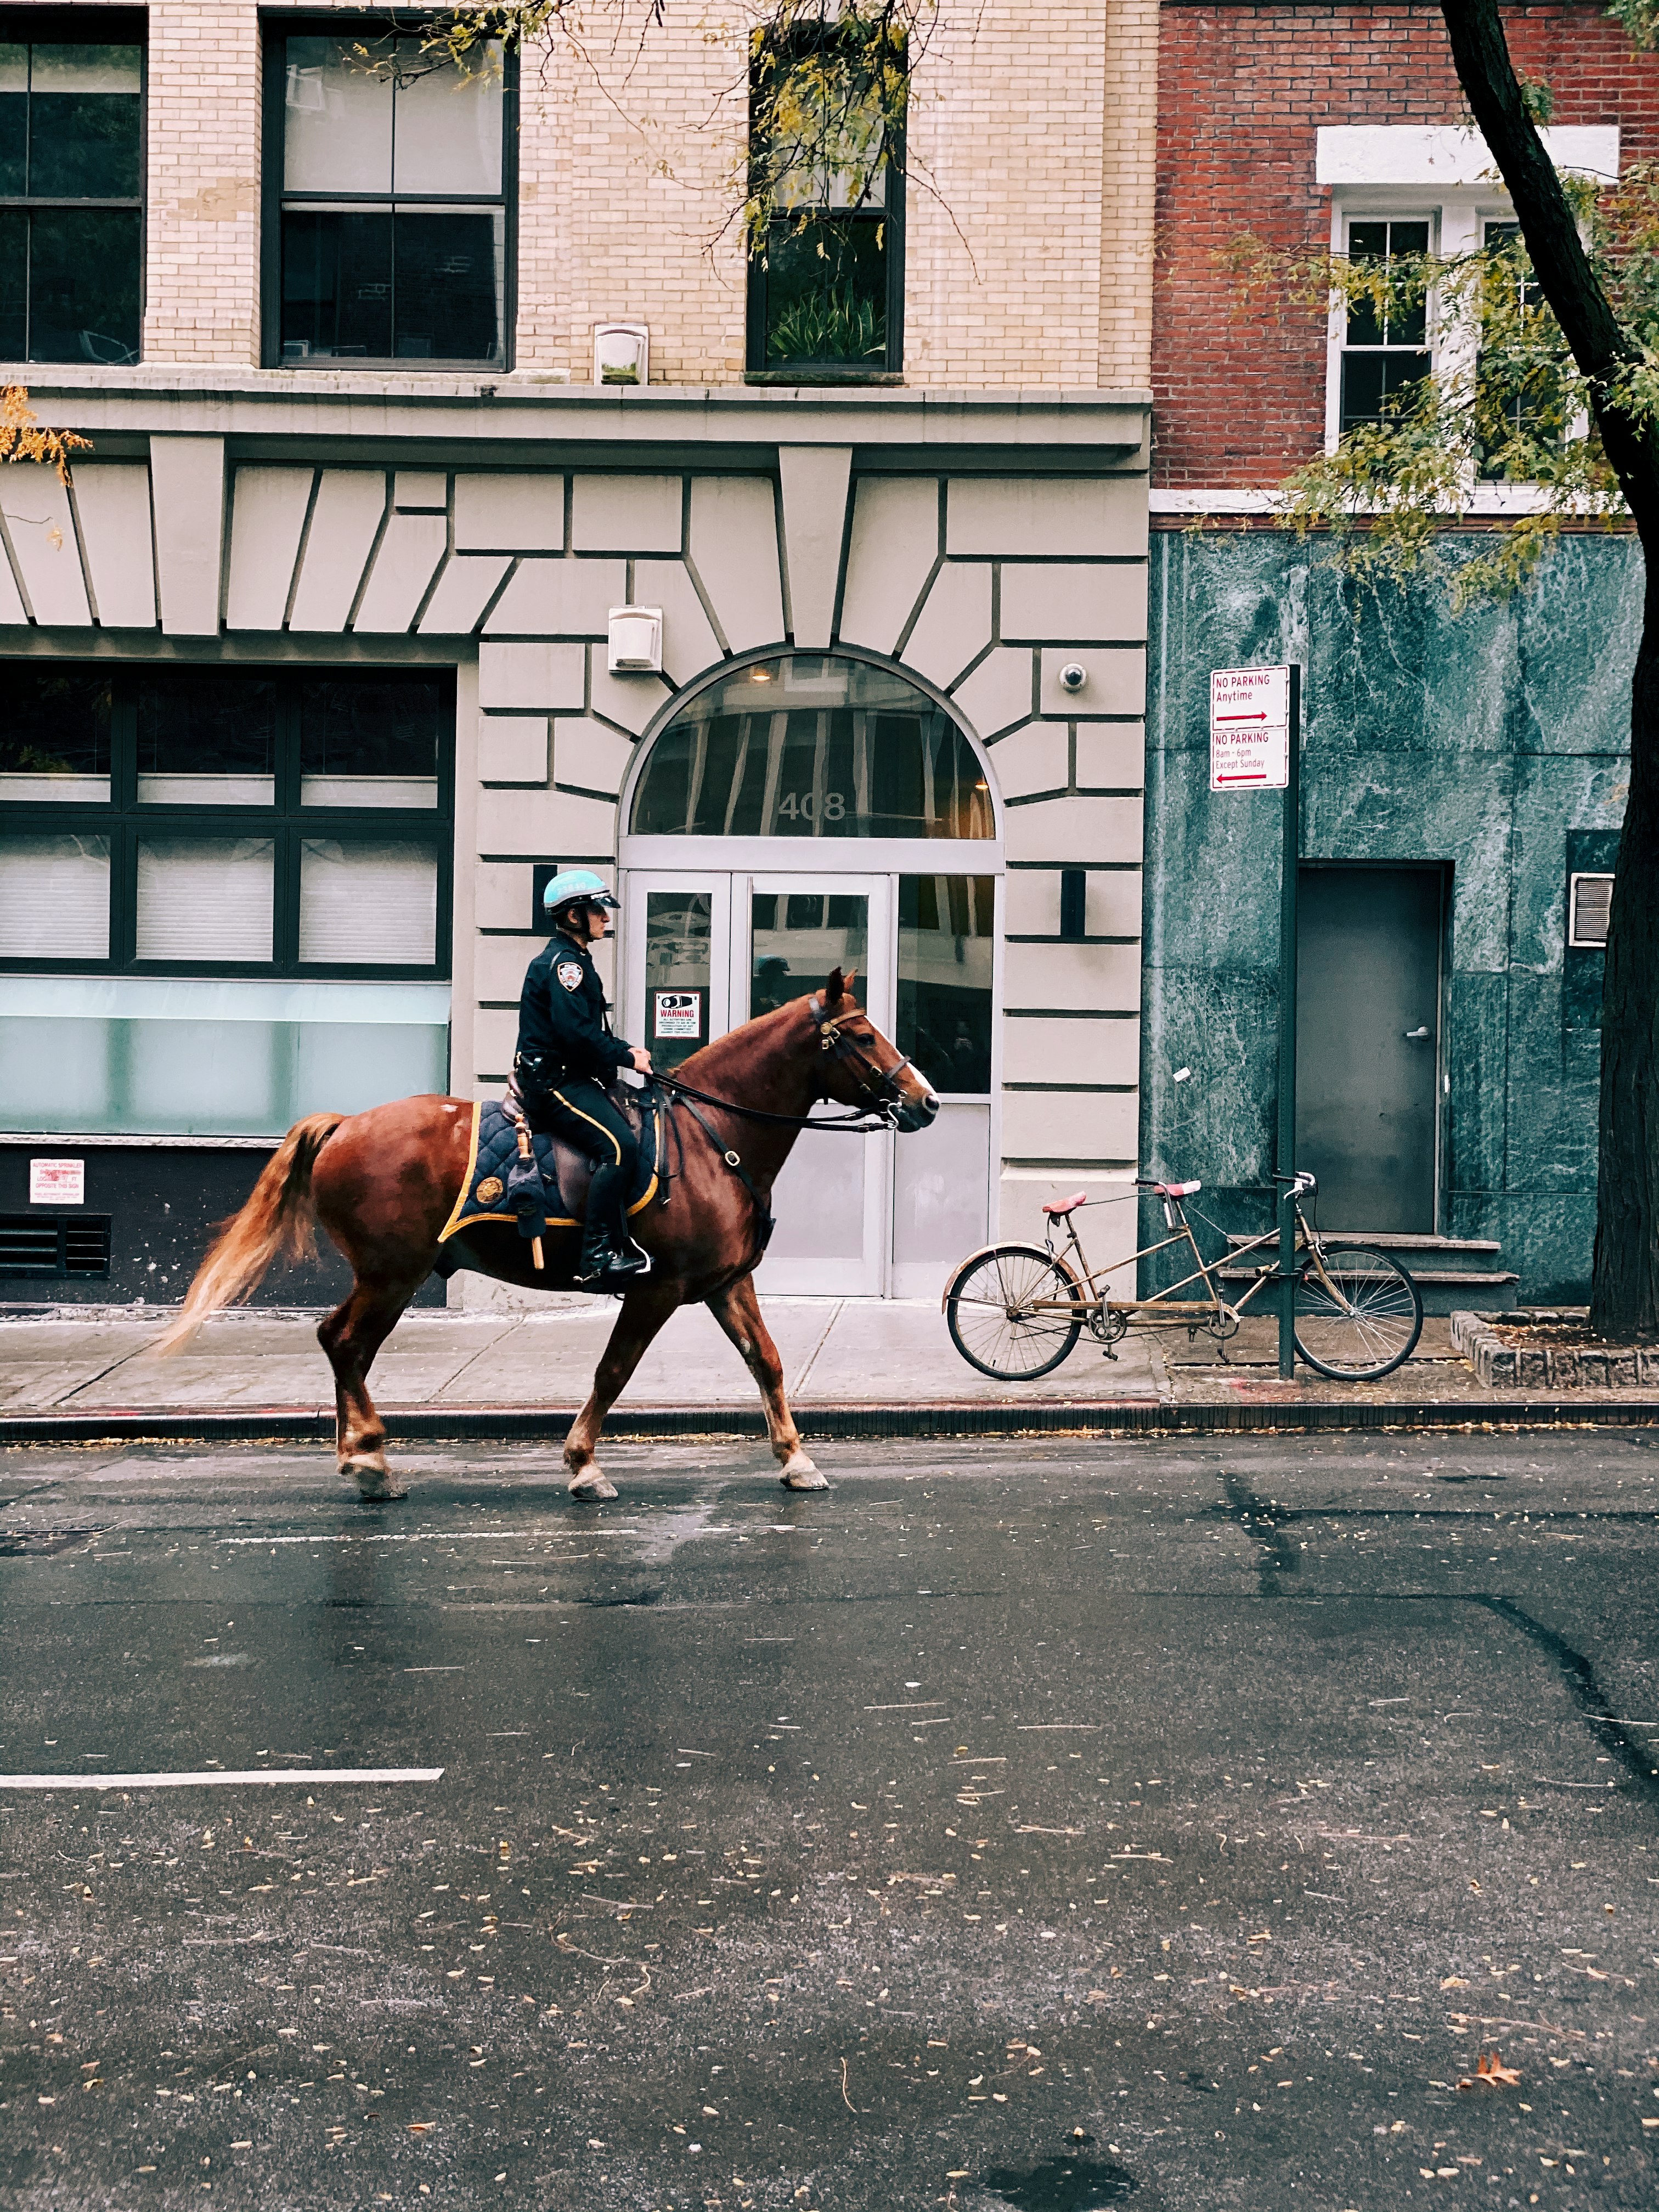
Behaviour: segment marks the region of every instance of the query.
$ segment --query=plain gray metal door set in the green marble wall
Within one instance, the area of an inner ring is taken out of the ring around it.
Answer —
[[[1296,1166],[1325,1230],[1436,1230],[1438,867],[1303,867]]]

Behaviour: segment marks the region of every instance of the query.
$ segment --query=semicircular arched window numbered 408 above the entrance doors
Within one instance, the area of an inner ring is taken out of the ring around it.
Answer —
[[[995,836],[973,745],[891,668],[792,653],[699,692],[657,739],[639,836]]]

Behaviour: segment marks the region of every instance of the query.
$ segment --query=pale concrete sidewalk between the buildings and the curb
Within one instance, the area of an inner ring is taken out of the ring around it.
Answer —
[[[1374,1385],[1325,1383],[1307,1369],[1281,1383],[1274,1325],[1245,1321],[1230,1360],[1186,1332],[1130,1334],[1106,1360],[1086,1336],[1035,1383],[993,1383],[960,1358],[931,1301],[768,1298],[794,1405],[823,1407],[1155,1407],[1155,1405],[1429,1405],[1486,1398],[1453,1356],[1447,1321],[1425,1323],[1416,1356]],[[239,1310],[210,1321],[173,1358],[148,1347],[166,1314],[55,1307],[0,1316],[0,1418],[124,1413],[332,1413],[316,1314]],[[608,1298],[564,1298],[533,1312],[405,1314],[369,1383],[387,1409],[573,1409],[615,1323]],[[1590,1394],[1584,1394],[1590,1396]],[[1619,1394],[1601,1394],[1617,1398]],[[743,1363],[703,1307],[661,1332],[622,1394],[622,1411],[757,1411]]]

